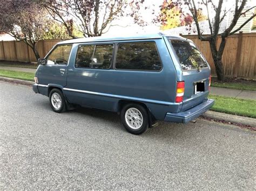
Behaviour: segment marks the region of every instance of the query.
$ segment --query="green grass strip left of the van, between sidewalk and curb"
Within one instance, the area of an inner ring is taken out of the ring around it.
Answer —
[[[17,72],[12,70],[0,69],[0,76],[34,81],[35,74],[30,72]]]

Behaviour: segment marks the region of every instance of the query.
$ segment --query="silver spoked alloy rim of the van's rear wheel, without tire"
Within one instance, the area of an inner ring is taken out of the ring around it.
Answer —
[[[136,108],[129,108],[125,112],[125,122],[132,129],[139,129],[143,124],[142,113]]]

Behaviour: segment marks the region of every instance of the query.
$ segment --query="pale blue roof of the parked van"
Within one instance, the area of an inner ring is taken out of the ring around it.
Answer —
[[[116,40],[139,40],[139,39],[160,39],[163,36],[171,37],[171,38],[179,38],[185,39],[180,36],[170,36],[164,33],[155,33],[155,34],[140,34],[134,36],[121,36],[121,37],[87,37],[87,38],[77,38],[77,39],[70,39],[70,40],[63,40],[60,41],[58,44],[73,44],[73,43],[90,43],[96,41],[116,41]]]

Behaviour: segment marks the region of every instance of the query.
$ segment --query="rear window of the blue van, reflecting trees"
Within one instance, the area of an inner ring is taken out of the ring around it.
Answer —
[[[207,63],[198,51],[197,47],[185,40],[172,40],[170,42],[179,59],[180,66],[183,70],[197,69],[207,67]]]

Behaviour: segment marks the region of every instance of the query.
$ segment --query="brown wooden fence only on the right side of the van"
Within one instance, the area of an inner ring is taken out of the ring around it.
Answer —
[[[215,75],[209,42],[199,40],[196,35],[183,37],[194,41],[210,64],[212,74]],[[218,46],[220,41],[221,37],[218,37]],[[256,33],[240,32],[227,37],[222,60],[226,76],[256,79]]]

